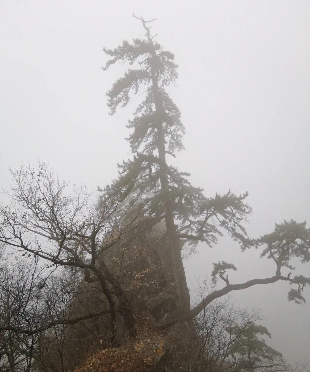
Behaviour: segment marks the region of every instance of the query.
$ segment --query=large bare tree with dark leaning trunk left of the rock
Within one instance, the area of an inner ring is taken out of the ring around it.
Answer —
[[[133,222],[128,221],[122,230],[111,230],[122,192],[117,199],[101,201],[97,208],[83,185],[66,195],[67,184],[60,182],[45,163],[39,164],[38,171],[21,167],[11,173],[14,186],[8,194],[10,205],[1,207],[0,241],[16,253],[49,263],[49,269],[80,268],[86,281],[91,280],[90,274],[95,276],[109,303],[113,343],[117,312],[129,335],[135,337],[129,300],[102,259],[103,253],[130,231]]]

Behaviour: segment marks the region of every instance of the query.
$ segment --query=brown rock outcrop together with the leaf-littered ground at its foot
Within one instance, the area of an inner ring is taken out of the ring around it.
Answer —
[[[102,257],[114,275],[122,278],[138,337],[130,339],[120,320],[120,346],[90,352],[75,372],[187,371],[187,360],[196,353],[192,323],[159,331],[158,326],[177,316],[178,293],[169,275],[165,224],[142,231],[133,231],[132,239],[122,241]],[[106,347],[104,342],[100,347]]]

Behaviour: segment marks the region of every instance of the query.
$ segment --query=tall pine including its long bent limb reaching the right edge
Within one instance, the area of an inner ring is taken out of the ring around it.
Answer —
[[[104,70],[116,62],[128,62],[132,66],[107,93],[110,114],[113,115],[118,106],[126,106],[131,94],[144,92],[145,96],[127,124],[131,129],[127,140],[133,158],[119,164],[119,178],[106,187],[104,197],[115,198],[122,193],[122,200],[130,198],[130,205],[139,205],[142,215],[152,218],[153,224],[165,221],[165,266],[178,296],[177,317],[174,313],[174,320],[167,321],[167,324],[195,317],[215,298],[230,291],[278,280],[298,285],[297,289],[290,290],[289,301],[305,302],[301,292],[310,279],[303,276],[291,279],[290,274],[283,276],[281,268],[294,269],[289,264],[293,257],[302,257],[303,263],[309,262],[310,229],[306,222],[284,221],[276,225],[271,234],[258,240],[250,239],[242,225],[252,211],[245,203],[247,192],[238,196],[229,190],[225,195],[216,194],[208,198],[203,189],[191,185],[187,178],[189,173],[168,164],[167,157],[175,157],[176,152],[183,150],[184,126],[180,110],[167,92],[167,86],[177,79],[177,65],[174,55],[154,40],[156,35],[151,35],[148,24],[152,20],[133,17],[142,22],[146,38],[133,39],[132,44],[124,41],[113,50],[104,48],[104,52],[112,57]],[[217,243],[223,231],[238,241],[242,250],[263,246],[261,257],[267,255],[275,261],[275,275],[230,284],[227,274],[224,274],[229,269],[237,270],[235,265],[225,261],[214,263],[213,280],[216,282],[220,278],[225,286],[190,310],[181,248],[184,243],[195,245],[199,241],[211,246]]]

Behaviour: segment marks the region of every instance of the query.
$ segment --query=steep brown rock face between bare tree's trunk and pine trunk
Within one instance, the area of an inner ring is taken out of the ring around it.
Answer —
[[[126,241],[113,246],[102,259],[114,276],[121,278],[135,315],[139,318],[139,314],[148,312],[151,323],[161,325],[167,318],[177,316],[178,303],[167,254],[165,222],[161,220],[148,228],[149,218],[143,216],[136,223],[137,230]]]

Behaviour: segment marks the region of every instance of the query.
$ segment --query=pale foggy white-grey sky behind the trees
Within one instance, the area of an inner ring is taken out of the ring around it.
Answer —
[[[92,189],[116,176],[135,106],[108,115],[105,93],[125,66],[103,72],[102,47],[143,37],[132,12],[157,17],[156,39],[180,66],[170,89],[186,128],[177,166],[207,196],[248,190],[252,237],[283,219],[310,222],[310,1],[302,0],[0,0],[1,185],[10,184],[8,167],[38,158]],[[185,261],[193,298],[196,278],[218,260],[238,267],[230,282],[274,274],[258,251],[241,254],[223,238]],[[310,276],[309,265],[300,273]],[[231,300],[261,309],[268,343],[303,359],[310,289],[304,307],[287,302],[288,290],[275,283]]]

